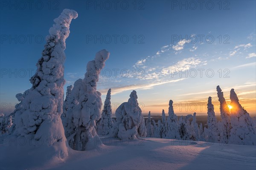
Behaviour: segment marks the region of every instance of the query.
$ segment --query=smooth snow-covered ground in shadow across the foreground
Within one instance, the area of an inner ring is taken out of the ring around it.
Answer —
[[[123,140],[102,137],[104,144],[93,150],[69,148],[63,162],[47,160],[40,150],[28,153],[1,145],[0,169],[96,169],[96,170],[160,170],[160,169],[256,169],[256,146],[207,144],[172,139],[140,138]],[[38,148],[39,149],[39,148]]]

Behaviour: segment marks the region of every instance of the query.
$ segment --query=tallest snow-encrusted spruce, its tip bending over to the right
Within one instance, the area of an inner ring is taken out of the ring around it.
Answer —
[[[45,156],[64,158],[67,141],[61,122],[63,108],[65,40],[70,34],[70,23],[78,16],[76,11],[64,9],[49,29],[37,71],[30,79],[32,88],[17,94],[20,101],[15,106],[15,136],[32,138],[31,143],[41,141]],[[37,145],[38,146],[38,145]],[[52,155],[53,154],[53,155]]]

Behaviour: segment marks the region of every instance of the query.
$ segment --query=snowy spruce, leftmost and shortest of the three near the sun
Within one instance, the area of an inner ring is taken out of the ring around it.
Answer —
[[[220,142],[218,122],[212,105],[212,97],[208,98],[207,115],[207,127],[204,127],[205,139],[207,142]]]

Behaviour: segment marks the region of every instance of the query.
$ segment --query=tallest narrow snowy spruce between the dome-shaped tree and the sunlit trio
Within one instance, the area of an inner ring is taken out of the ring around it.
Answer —
[[[167,138],[169,139],[180,139],[179,133],[179,124],[177,115],[174,113],[173,110],[173,101],[169,101],[169,111],[168,111],[168,118],[167,118],[167,125],[168,125],[168,133]]]

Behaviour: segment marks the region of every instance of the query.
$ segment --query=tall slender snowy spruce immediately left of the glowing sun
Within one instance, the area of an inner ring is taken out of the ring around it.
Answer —
[[[220,102],[221,122],[218,123],[220,142],[228,143],[230,137],[230,110],[220,86],[217,86],[218,101]]]

